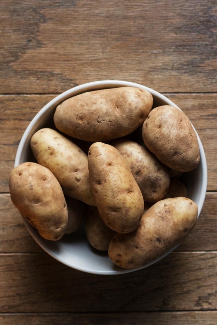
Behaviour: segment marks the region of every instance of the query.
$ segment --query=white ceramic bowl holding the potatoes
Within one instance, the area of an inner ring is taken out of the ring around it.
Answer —
[[[156,92],[155,90],[132,82],[104,80],[104,81],[95,81],[88,84],[76,86],[72,89],[65,91],[64,93],[55,97],[54,99],[52,99],[47,105],[45,105],[45,107],[43,107],[37,113],[37,115],[31,121],[31,123],[29,124],[29,126],[27,127],[26,131],[22,136],[20,145],[17,150],[16,158],[15,158],[15,167],[22,162],[34,161],[34,157],[32,155],[31,148],[30,148],[30,139],[32,135],[40,128],[50,127],[50,126],[52,127],[53,114],[55,108],[63,100],[81,94],[86,91],[105,89],[105,88],[115,88],[115,87],[122,87],[122,86],[132,86],[132,87],[138,87],[141,89],[148,90],[154,98],[154,107],[160,105],[172,105],[174,107],[177,107],[171,100],[161,95],[160,93]],[[198,205],[198,216],[199,216],[206,195],[207,164],[206,164],[204,149],[198,135],[197,135],[197,139],[199,142],[199,149],[200,149],[200,163],[195,170],[185,174],[184,182],[188,190],[188,197],[193,201],[195,201]],[[113,264],[113,262],[109,259],[107,253],[98,252],[97,250],[93,249],[89,245],[87,239],[85,238],[83,229],[77,231],[72,235],[63,236],[61,240],[49,241],[43,239],[38,234],[38,231],[34,227],[32,227],[24,218],[23,221],[27,229],[29,230],[30,234],[34,238],[34,240],[48,254],[56,258],[61,263],[73,267],[77,270],[88,272],[88,273],[95,273],[95,274],[115,275],[115,274],[133,272],[135,270],[140,269],[137,268],[137,269],[128,270]],[[172,252],[176,247],[171,249],[170,252]],[[167,254],[169,254],[170,252],[168,252]],[[154,262],[149,263],[144,267],[147,267],[159,261],[167,254],[161,256]]]

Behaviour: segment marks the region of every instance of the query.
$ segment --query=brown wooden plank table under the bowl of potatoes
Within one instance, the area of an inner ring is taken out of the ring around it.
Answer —
[[[1,324],[217,324],[216,10],[215,0],[1,1]],[[8,193],[34,115],[66,89],[104,79],[173,100],[208,163],[192,233],[157,264],[118,276],[82,273],[44,253]]]

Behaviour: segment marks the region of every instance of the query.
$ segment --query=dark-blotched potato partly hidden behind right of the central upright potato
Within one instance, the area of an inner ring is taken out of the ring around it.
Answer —
[[[118,139],[112,145],[127,161],[142,192],[144,201],[157,202],[162,200],[170,185],[167,167],[148,149],[134,141]]]

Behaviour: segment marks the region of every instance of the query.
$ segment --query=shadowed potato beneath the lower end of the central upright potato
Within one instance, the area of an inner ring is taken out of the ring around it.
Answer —
[[[107,251],[115,231],[102,220],[97,207],[88,207],[85,216],[85,232],[89,243],[99,251]]]

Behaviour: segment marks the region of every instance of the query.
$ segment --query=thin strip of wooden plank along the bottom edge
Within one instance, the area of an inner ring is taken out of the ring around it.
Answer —
[[[143,324],[143,325],[213,325],[217,311],[140,312],[140,313],[26,313],[0,314],[0,324],[13,325],[68,325],[68,324]]]

